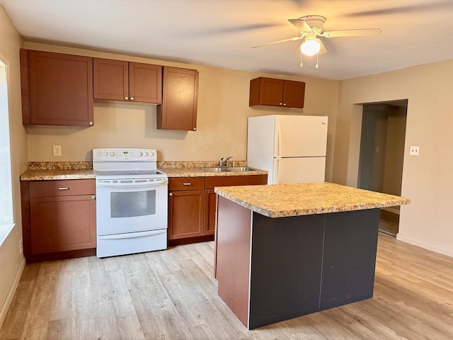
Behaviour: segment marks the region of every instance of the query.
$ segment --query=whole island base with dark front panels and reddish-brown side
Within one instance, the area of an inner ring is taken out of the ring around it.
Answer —
[[[217,204],[214,276],[248,329],[372,297],[379,209],[270,218]]]

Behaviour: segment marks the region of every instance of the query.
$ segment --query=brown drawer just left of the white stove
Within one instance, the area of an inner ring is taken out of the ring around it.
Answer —
[[[94,179],[30,182],[30,198],[47,196],[94,195]]]

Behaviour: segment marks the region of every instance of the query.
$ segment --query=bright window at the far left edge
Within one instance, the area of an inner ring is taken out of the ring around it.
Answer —
[[[11,149],[9,145],[8,81],[0,61],[0,244],[13,226]]]

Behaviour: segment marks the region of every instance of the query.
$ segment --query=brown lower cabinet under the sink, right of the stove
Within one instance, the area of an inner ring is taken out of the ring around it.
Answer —
[[[168,245],[214,239],[216,186],[268,183],[268,175],[168,179]]]

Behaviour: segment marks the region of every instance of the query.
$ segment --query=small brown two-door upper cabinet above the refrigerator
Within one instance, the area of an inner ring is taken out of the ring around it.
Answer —
[[[259,77],[250,81],[248,106],[304,108],[305,83]]]

